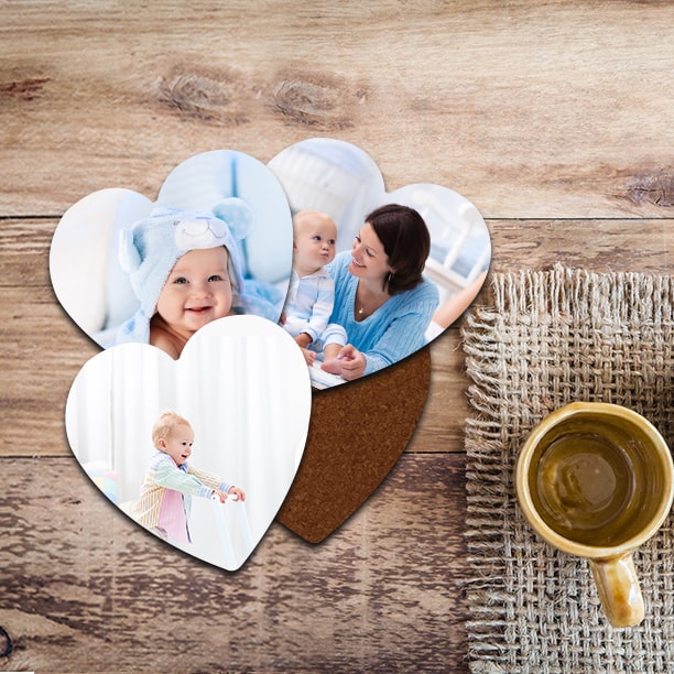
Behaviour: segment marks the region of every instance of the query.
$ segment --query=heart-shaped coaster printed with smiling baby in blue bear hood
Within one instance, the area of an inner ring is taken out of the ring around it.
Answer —
[[[107,188],[74,204],[54,232],[50,272],[65,311],[107,348],[148,340],[162,284],[195,249],[225,246],[232,311],[276,322],[292,240],[290,207],[273,172],[244,153],[216,150],[178,164],[155,202]]]

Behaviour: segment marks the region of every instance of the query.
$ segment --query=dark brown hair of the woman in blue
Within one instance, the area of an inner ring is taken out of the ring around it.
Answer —
[[[431,252],[431,235],[424,218],[409,206],[388,204],[365,219],[381,241],[389,264],[395,270],[384,280],[390,295],[416,287]]]

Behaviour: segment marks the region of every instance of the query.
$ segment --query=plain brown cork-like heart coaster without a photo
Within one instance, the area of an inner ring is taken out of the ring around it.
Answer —
[[[304,457],[279,522],[309,543],[338,529],[398,461],[430,381],[426,347],[348,387],[315,392]]]

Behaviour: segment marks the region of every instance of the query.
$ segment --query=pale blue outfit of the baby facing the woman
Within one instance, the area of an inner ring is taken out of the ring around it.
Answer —
[[[327,327],[335,301],[335,283],[325,268],[306,276],[293,270],[285,300],[285,324],[293,336],[306,333],[316,341]]]

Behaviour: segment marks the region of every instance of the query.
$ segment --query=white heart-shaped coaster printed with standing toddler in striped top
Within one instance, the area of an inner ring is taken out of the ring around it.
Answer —
[[[287,333],[232,316],[198,330],[178,360],[144,344],[91,358],[68,394],[66,431],[77,460],[120,510],[235,570],[293,481],[311,401],[306,363]]]

